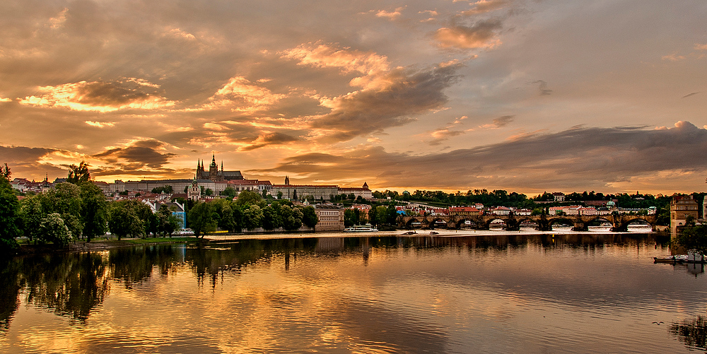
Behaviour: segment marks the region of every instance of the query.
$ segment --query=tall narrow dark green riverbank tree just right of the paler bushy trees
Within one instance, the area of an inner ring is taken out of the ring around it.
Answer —
[[[105,234],[108,202],[105,200],[103,190],[92,182],[79,184],[79,189],[83,236],[90,242],[93,237]]]

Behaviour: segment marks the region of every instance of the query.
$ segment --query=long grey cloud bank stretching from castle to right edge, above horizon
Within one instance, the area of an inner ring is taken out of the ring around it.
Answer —
[[[260,172],[317,179],[375,177],[385,186],[466,189],[595,189],[660,172],[707,172],[707,130],[689,122],[671,129],[575,128],[447,153],[387,153],[380,147],[342,155],[310,153]],[[440,169],[445,170],[440,175]]]

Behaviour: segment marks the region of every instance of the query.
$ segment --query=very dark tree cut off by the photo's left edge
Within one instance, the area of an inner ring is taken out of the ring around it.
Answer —
[[[10,176],[7,164],[0,167],[0,250],[15,249],[15,237],[21,235],[20,202],[12,191]]]

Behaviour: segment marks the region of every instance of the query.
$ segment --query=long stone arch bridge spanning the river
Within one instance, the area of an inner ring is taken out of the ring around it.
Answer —
[[[551,231],[552,225],[555,223],[573,225],[575,231],[587,231],[588,225],[591,223],[607,222],[612,224],[612,231],[622,232],[628,231],[630,223],[637,220],[648,223],[655,231],[655,215],[629,215],[629,214],[610,214],[610,215],[569,215],[569,216],[515,216],[515,215],[479,215],[479,216],[399,216],[398,228],[448,228],[460,229],[465,222],[469,221],[471,228],[477,230],[489,230],[491,222],[501,220],[506,223],[506,230],[518,231],[522,223],[534,223],[535,228],[539,231]],[[419,224],[417,224],[419,223]]]

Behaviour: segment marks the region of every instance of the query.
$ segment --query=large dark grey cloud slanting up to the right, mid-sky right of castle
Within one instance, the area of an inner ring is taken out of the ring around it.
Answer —
[[[338,98],[332,112],[312,122],[313,128],[338,131],[331,138],[346,141],[414,120],[416,114],[442,107],[445,88],[455,83],[458,65],[411,73],[386,90],[362,90]]]

